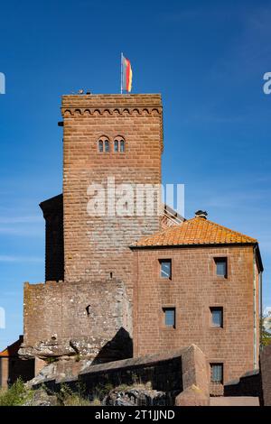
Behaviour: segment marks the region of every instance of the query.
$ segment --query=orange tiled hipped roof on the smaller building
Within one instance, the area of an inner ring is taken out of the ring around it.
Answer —
[[[220,226],[203,217],[194,217],[179,226],[140,238],[131,247],[189,244],[257,244],[257,239]]]

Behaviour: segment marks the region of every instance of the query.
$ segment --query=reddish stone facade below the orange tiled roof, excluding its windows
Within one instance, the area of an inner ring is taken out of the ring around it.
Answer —
[[[217,256],[228,258],[227,278],[216,275]],[[172,260],[171,280],[160,278],[161,259]],[[138,249],[135,263],[135,355],[194,343],[209,363],[223,364],[224,383],[253,369],[252,246]],[[164,325],[167,307],[175,327]],[[223,327],[211,326],[211,307],[223,308]]]

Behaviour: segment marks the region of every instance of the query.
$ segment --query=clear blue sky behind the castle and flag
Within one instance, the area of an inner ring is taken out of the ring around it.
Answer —
[[[185,215],[257,237],[271,306],[271,5],[265,1],[2,2],[0,349],[23,331],[23,281],[44,279],[38,204],[61,193],[61,95],[118,93],[120,52],[134,93],[164,100],[164,183]]]

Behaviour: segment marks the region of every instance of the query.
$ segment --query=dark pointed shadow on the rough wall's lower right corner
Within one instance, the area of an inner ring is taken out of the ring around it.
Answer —
[[[104,364],[133,357],[133,340],[124,327],[120,327],[116,335],[103,346],[92,365]]]

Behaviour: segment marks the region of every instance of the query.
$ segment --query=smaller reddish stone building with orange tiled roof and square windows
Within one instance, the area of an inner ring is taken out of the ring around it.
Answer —
[[[210,364],[211,392],[258,367],[257,240],[196,217],[133,247],[134,354],[192,343]]]

